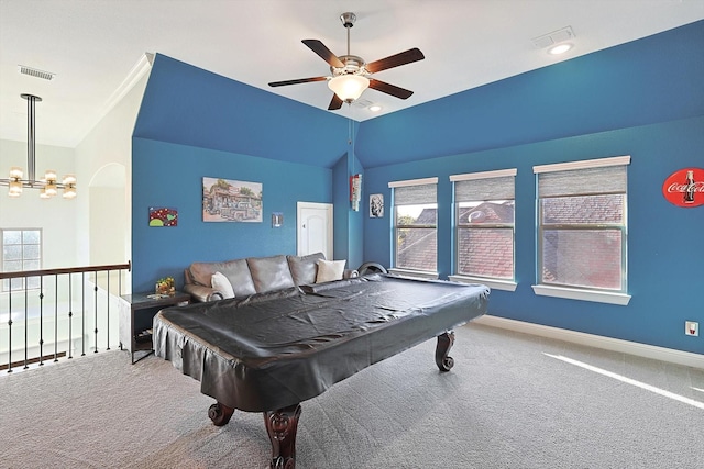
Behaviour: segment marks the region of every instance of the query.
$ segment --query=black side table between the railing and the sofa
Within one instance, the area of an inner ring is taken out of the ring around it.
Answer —
[[[190,303],[190,294],[177,291],[170,295],[154,293],[132,293],[121,295],[120,304],[120,349],[128,349],[132,365],[154,351],[152,344],[152,321],[154,315],[167,306],[183,306]],[[146,351],[136,360],[135,351]]]

